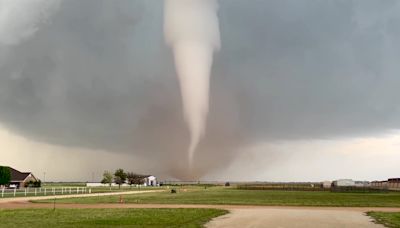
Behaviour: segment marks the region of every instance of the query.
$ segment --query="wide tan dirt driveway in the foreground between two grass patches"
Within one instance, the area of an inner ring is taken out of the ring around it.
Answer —
[[[373,223],[363,212],[346,208],[336,210],[256,208],[232,209],[230,214],[212,220],[206,227],[378,228],[383,226]]]

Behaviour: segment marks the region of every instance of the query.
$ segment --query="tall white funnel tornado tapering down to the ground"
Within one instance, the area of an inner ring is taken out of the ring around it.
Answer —
[[[188,164],[205,134],[214,52],[220,49],[217,0],[165,0],[164,33],[179,80],[190,132]]]

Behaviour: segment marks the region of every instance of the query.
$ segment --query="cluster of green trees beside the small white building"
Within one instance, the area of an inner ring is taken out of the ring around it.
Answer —
[[[115,170],[114,174],[112,174],[110,171],[104,171],[101,183],[108,184],[110,186],[112,183],[115,183],[121,188],[121,185],[125,183],[129,184],[130,186],[144,184],[145,177],[146,176],[133,172],[125,172],[123,169],[117,169]]]

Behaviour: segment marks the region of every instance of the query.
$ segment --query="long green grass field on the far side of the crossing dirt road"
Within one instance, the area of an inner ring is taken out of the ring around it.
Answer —
[[[335,193],[310,191],[238,190],[235,188],[178,188],[169,191],[125,195],[126,203],[231,204],[286,206],[400,207],[400,192]],[[39,201],[46,202],[46,201]],[[52,202],[47,201],[47,202]],[[58,203],[117,203],[119,196],[59,199]]]

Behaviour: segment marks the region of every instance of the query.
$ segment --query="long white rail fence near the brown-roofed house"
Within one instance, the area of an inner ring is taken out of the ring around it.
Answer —
[[[0,197],[21,196],[49,196],[49,195],[72,195],[92,193],[91,188],[86,187],[54,187],[54,188],[24,188],[24,189],[0,189]]]

